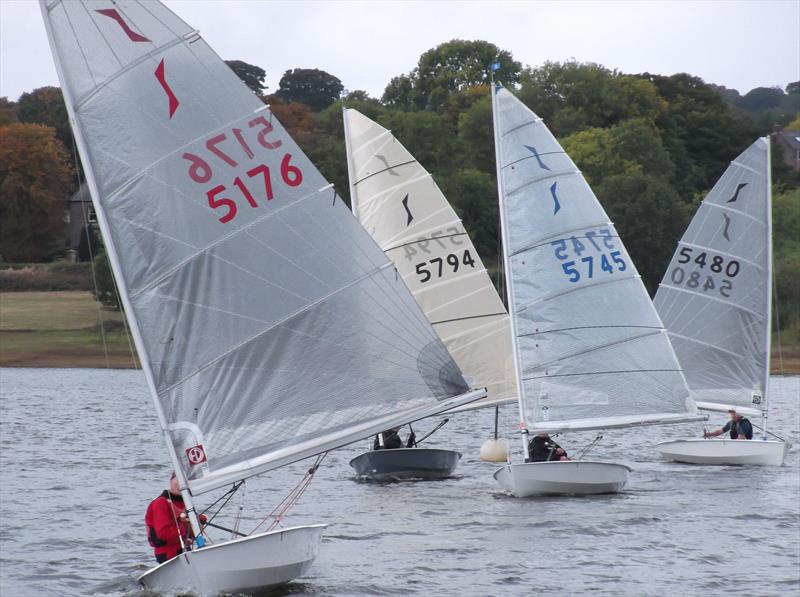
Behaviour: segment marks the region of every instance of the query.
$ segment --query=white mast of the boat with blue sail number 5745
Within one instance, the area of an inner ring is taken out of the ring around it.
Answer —
[[[517,404],[519,405],[520,436],[522,439],[522,453],[527,462],[530,454],[528,453],[528,424],[525,421],[525,388],[522,385],[522,378],[519,372],[519,346],[517,345],[517,319],[514,307],[514,280],[511,275],[511,262],[508,255],[508,223],[506,222],[505,199],[503,194],[503,173],[500,164],[500,125],[497,118],[497,90],[499,83],[494,82],[494,71],[490,79],[492,94],[492,128],[494,129],[494,160],[495,170],[497,171],[497,203],[500,209],[500,236],[502,239],[503,250],[503,271],[505,275],[506,301],[508,303],[508,318],[511,326],[511,350],[514,356],[514,377],[517,381]]]

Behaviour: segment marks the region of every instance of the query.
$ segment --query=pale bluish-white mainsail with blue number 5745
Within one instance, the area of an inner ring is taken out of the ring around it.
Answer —
[[[698,418],[614,225],[542,120],[493,87],[523,424],[590,429]]]

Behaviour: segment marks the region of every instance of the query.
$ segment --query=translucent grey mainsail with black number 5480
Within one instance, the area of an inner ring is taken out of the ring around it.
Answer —
[[[765,408],[772,296],[769,164],[769,138],[731,162],[700,204],[656,293],[656,308],[701,408]]]

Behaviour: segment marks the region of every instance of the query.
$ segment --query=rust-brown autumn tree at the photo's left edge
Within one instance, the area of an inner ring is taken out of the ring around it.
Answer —
[[[63,246],[70,168],[55,131],[0,126],[0,256],[40,261]]]

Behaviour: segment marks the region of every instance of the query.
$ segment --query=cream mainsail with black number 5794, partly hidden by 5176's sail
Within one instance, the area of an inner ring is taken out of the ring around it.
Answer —
[[[516,400],[508,313],[459,217],[392,133],[343,111],[353,213],[394,262],[439,337],[486,398]],[[462,409],[463,410],[463,409]]]

